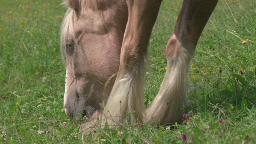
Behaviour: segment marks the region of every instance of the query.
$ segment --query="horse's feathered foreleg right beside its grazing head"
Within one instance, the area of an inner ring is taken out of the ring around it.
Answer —
[[[104,108],[108,123],[122,122],[127,116],[130,124],[143,121],[144,64],[148,41],[162,0],[127,0],[128,22],[122,43],[120,67],[113,89]]]

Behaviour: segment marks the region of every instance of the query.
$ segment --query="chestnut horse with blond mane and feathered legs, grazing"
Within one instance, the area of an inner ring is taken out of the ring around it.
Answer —
[[[184,0],[166,45],[167,69],[160,90],[144,106],[148,43],[162,0],[64,0],[60,31],[66,63],[65,113],[91,122],[182,123],[188,64],[218,0]],[[102,105],[100,105],[102,104]]]

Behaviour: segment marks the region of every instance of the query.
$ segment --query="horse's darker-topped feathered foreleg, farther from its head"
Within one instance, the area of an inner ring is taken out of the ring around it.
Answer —
[[[156,98],[146,109],[148,122],[181,123],[186,106],[188,64],[198,39],[218,0],[184,0],[174,31],[166,46],[167,70]]]

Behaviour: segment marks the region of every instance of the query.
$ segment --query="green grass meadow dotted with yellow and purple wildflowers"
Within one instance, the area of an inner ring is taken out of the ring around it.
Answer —
[[[65,67],[61,0],[1,0],[0,142],[256,143],[256,2],[220,0],[198,42],[188,74],[187,120],[161,126],[106,126],[81,137],[63,111]],[[162,55],[182,1],[162,2],[150,38],[145,105],[158,92]],[[183,134],[183,140],[182,140]],[[187,140],[186,140],[187,138]]]

